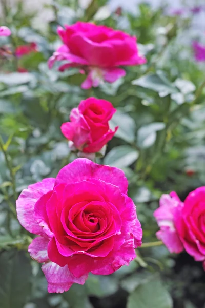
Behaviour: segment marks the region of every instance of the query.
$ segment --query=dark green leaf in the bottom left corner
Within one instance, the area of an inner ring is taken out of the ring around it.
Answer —
[[[29,259],[23,251],[3,251],[0,264],[0,307],[22,308],[31,289]]]

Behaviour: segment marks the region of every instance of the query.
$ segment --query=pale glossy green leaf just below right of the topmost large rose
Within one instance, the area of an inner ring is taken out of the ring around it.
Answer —
[[[178,92],[177,88],[172,85],[162,72],[147,74],[133,80],[132,84],[158,92],[161,97]]]

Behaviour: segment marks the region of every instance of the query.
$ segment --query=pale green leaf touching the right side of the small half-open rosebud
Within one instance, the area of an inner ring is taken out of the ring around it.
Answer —
[[[110,121],[110,126],[112,129],[115,126],[119,126],[115,133],[115,137],[125,140],[128,143],[134,142],[136,125],[130,115],[121,113],[117,110]]]

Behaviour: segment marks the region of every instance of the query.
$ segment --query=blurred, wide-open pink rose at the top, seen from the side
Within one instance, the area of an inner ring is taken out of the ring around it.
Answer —
[[[58,27],[57,33],[64,44],[50,57],[49,67],[62,60],[65,63],[59,67],[60,71],[79,67],[81,73],[88,74],[81,85],[84,89],[97,87],[102,80],[112,83],[125,76],[126,71],[120,66],[146,63],[138,53],[136,37],[122,31],[77,22],[65,25],[65,29]]]

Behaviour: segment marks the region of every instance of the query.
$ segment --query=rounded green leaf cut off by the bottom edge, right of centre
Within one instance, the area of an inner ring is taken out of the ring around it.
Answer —
[[[172,298],[159,278],[139,285],[128,297],[127,308],[172,308]]]

